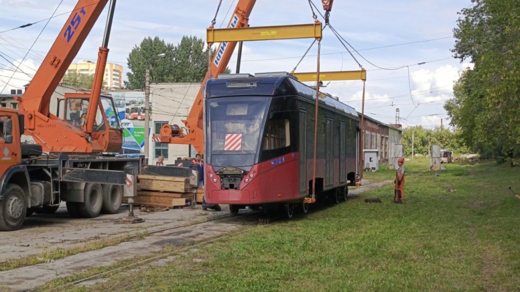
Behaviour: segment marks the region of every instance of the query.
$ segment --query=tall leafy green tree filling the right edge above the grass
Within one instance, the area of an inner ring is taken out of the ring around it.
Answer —
[[[520,5],[472,0],[453,30],[454,57],[474,63],[445,104],[451,124],[473,151],[520,161]]]

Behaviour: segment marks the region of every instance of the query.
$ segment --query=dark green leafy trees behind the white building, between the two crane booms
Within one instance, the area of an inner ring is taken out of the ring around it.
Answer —
[[[215,51],[213,50],[212,55]],[[159,54],[165,54],[163,58]],[[207,72],[207,48],[202,38],[183,36],[176,46],[158,36],[147,37],[128,55],[128,89],[145,87],[146,69],[150,82],[202,82]],[[229,69],[226,69],[229,73]]]

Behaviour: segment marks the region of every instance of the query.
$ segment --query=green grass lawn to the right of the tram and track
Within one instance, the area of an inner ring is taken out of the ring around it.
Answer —
[[[386,185],[215,242],[168,266],[75,290],[519,291],[520,202],[507,188],[520,193],[520,168],[448,164],[437,177],[426,160],[405,165],[402,205],[391,203],[393,184]]]

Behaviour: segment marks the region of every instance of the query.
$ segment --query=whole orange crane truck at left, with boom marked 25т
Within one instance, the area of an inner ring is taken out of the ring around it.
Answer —
[[[61,201],[73,217],[115,214],[127,175],[141,171],[144,157],[106,154],[119,152],[123,141],[115,104],[101,95],[115,0],[110,1],[92,90],[64,95],[57,114],[50,113],[51,95],[107,3],[79,0],[18,98],[19,110],[0,108],[0,231],[19,229],[33,212],[54,213]],[[35,143],[21,142],[22,135]]]

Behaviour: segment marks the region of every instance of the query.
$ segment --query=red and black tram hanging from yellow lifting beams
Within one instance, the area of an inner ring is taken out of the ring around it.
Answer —
[[[307,211],[313,192],[316,89],[287,73],[211,79],[205,99],[205,199]],[[359,116],[322,94],[318,109],[316,197],[338,202],[357,174]]]

